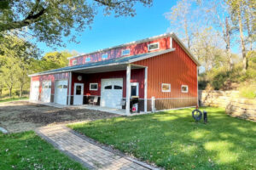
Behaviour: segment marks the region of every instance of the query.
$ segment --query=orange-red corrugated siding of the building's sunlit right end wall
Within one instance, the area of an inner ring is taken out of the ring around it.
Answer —
[[[148,98],[195,98],[197,97],[196,64],[177,42],[174,52],[137,61],[134,64],[148,66]],[[171,92],[162,92],[161,83],[171,83]],[[182,93],[181,86],[188,85],[189,93]]]

